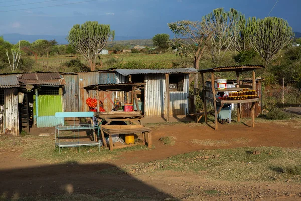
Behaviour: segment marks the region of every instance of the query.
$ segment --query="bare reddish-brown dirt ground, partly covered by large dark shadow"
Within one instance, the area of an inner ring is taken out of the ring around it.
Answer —
[[[163,136],[175,136],[176,145],[166,146],[160,142]],[[217,146],[203,146],[191,143],[191,140],[215,140],[224,143]],[[242,139],[241,143],[235,143],[233,139]],[[229,142],[229,144],[225,143]],[[200,149],[216,149],[216,148],[233,148],[241,146],[278,146],[278,147],[301,147],[301,127],[300,121],[287,121],[283,123],[256,123],[255,128],[251,128],[244,124],[219,125],[219,130],[215,131],[208,126],[198,126],[197,124],[175,124],[166,126],[157,126],[153,129],[152,150],[139,150],[123,153],[118,159],[102,164],[42,164],[34,160],[28,160],[18,157],[20,153],[4,153],[0,152],[0,192],[6,192],[9,197],[13,196],[52,196],[60,195],[71,191],[70,193],[97,194],[98,198],[105,197],[105,192],[96,192],[94,189],[97,185],[104,185],[103,190],[129,190],[141,191],[149,199],[146,200],[164,200],[172,197],[172,194],[187,194],[187,189],[202,185],[204,189],[221,188],[223,185],[229,189],[239,189],[233,192],[233,196],[238,198],[247,198],[239,193],[245,193],[244,189],[237,187],[229,182],[206,181],[203,178],[196,178],[195,175],[174,175],[173,172],[160,173],[157,175],[140,175],[137,178],[122,174],[121,176],[107,176],[97,174],[96,172],[108,167],[118,167],[123,164],[131,164],[136,162],[149,162],[160,160],[172,155],[187,153]],[[122,178],[122,179],[121,179]],[[120,180],[121,179],[121,180]],[[186,190],[180,187],[180,183],[190,182]],[[128,185],[130,183],[130,185]],[[178,186],[173,184],[179,183]],[[201,183],[201,184],[200,184]],[[71,185],[72,189],[69,189]],[[247,183],[247,189],[257,188],[258,191],[265,191],[270,188],[282,189],[279,193],[266,196],[267,200],[288,199],[296,200],[298,193],[301,193],[298,185],[277,184],[267,187],[262,183]],[[68,187],[69,186],[69,187]],[[247,190],[246,189],[246,190]],[[289,191],[290,190],[290,191]],[[254,191],[255,192],[255,191]],[[292,194],[285,195],[285,192]],[[0,193],[0,196],[1,196]],[[104,193],[104,194],[103,194]],[[283,194],[284,193],[284,194]],[[17,194],[17,195],[16,195]],[[118,194],[118,193],[117,193]],[[116,196],[117,196],[116,194]],[[100,196],[101,195],[101,196]],[[281,195],[281,196],[280,196]],[[99,197],[100,196],[100,197]],[[119,195],[118,195],[119,196]],[[222,198],[230,199],[230,196],[224,197],[202,197],[203,195],[195,195],[190,197],[191,200],[216,200]],[[251,197],[251,193],[250,193]],[[275,197],[278,197],[275,199]],[[129,197],[123,198],[127,200]],[[187,198],[187,197],[186,197]],[[254,199],[259,199],[259,195]],[[187,198],[188,199],[188,198]],[[113,199],[112,199],[113,200]],[[134,200],[130,198],[128,200]],[[172,200],[172,199],[170,199]],[[174,199],[176,200],[176,199]]]

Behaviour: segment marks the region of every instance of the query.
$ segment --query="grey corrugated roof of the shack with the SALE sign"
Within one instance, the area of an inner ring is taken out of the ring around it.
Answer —
[[[116,69],[121,75],[135,75],[135,74],[178,74],[178,73],[197,73],[198,70],[195,68],[172,68],[172,69]]]

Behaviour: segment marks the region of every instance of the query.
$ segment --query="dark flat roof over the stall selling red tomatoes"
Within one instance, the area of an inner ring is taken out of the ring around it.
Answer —
[[[131,91],[132,87],[144,86],[146,83],[125,83],[125,84],[97,84],[85,86],[84,89],[100,91]]]

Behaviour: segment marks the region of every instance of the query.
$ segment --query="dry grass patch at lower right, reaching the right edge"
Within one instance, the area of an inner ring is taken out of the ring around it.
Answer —
[[[301,182],[300,169],[296,169],[300,158],[301,150],[295,148],[242,147],[200,150],[123,168],[130,174],[171,170],[194,172],[210,180]],[[282,171],[287,164],[292,168]]]

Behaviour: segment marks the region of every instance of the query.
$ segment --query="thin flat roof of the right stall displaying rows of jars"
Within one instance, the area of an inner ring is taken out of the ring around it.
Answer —
[[[230,71],[250,71],[255,69],[264,68],[262,65],[243,65],[243,66],[223,66],[223,67],[216,67],[216,68],[209,68],[204,70],[199,70],[200,73],[206,72],[230,72]]]

